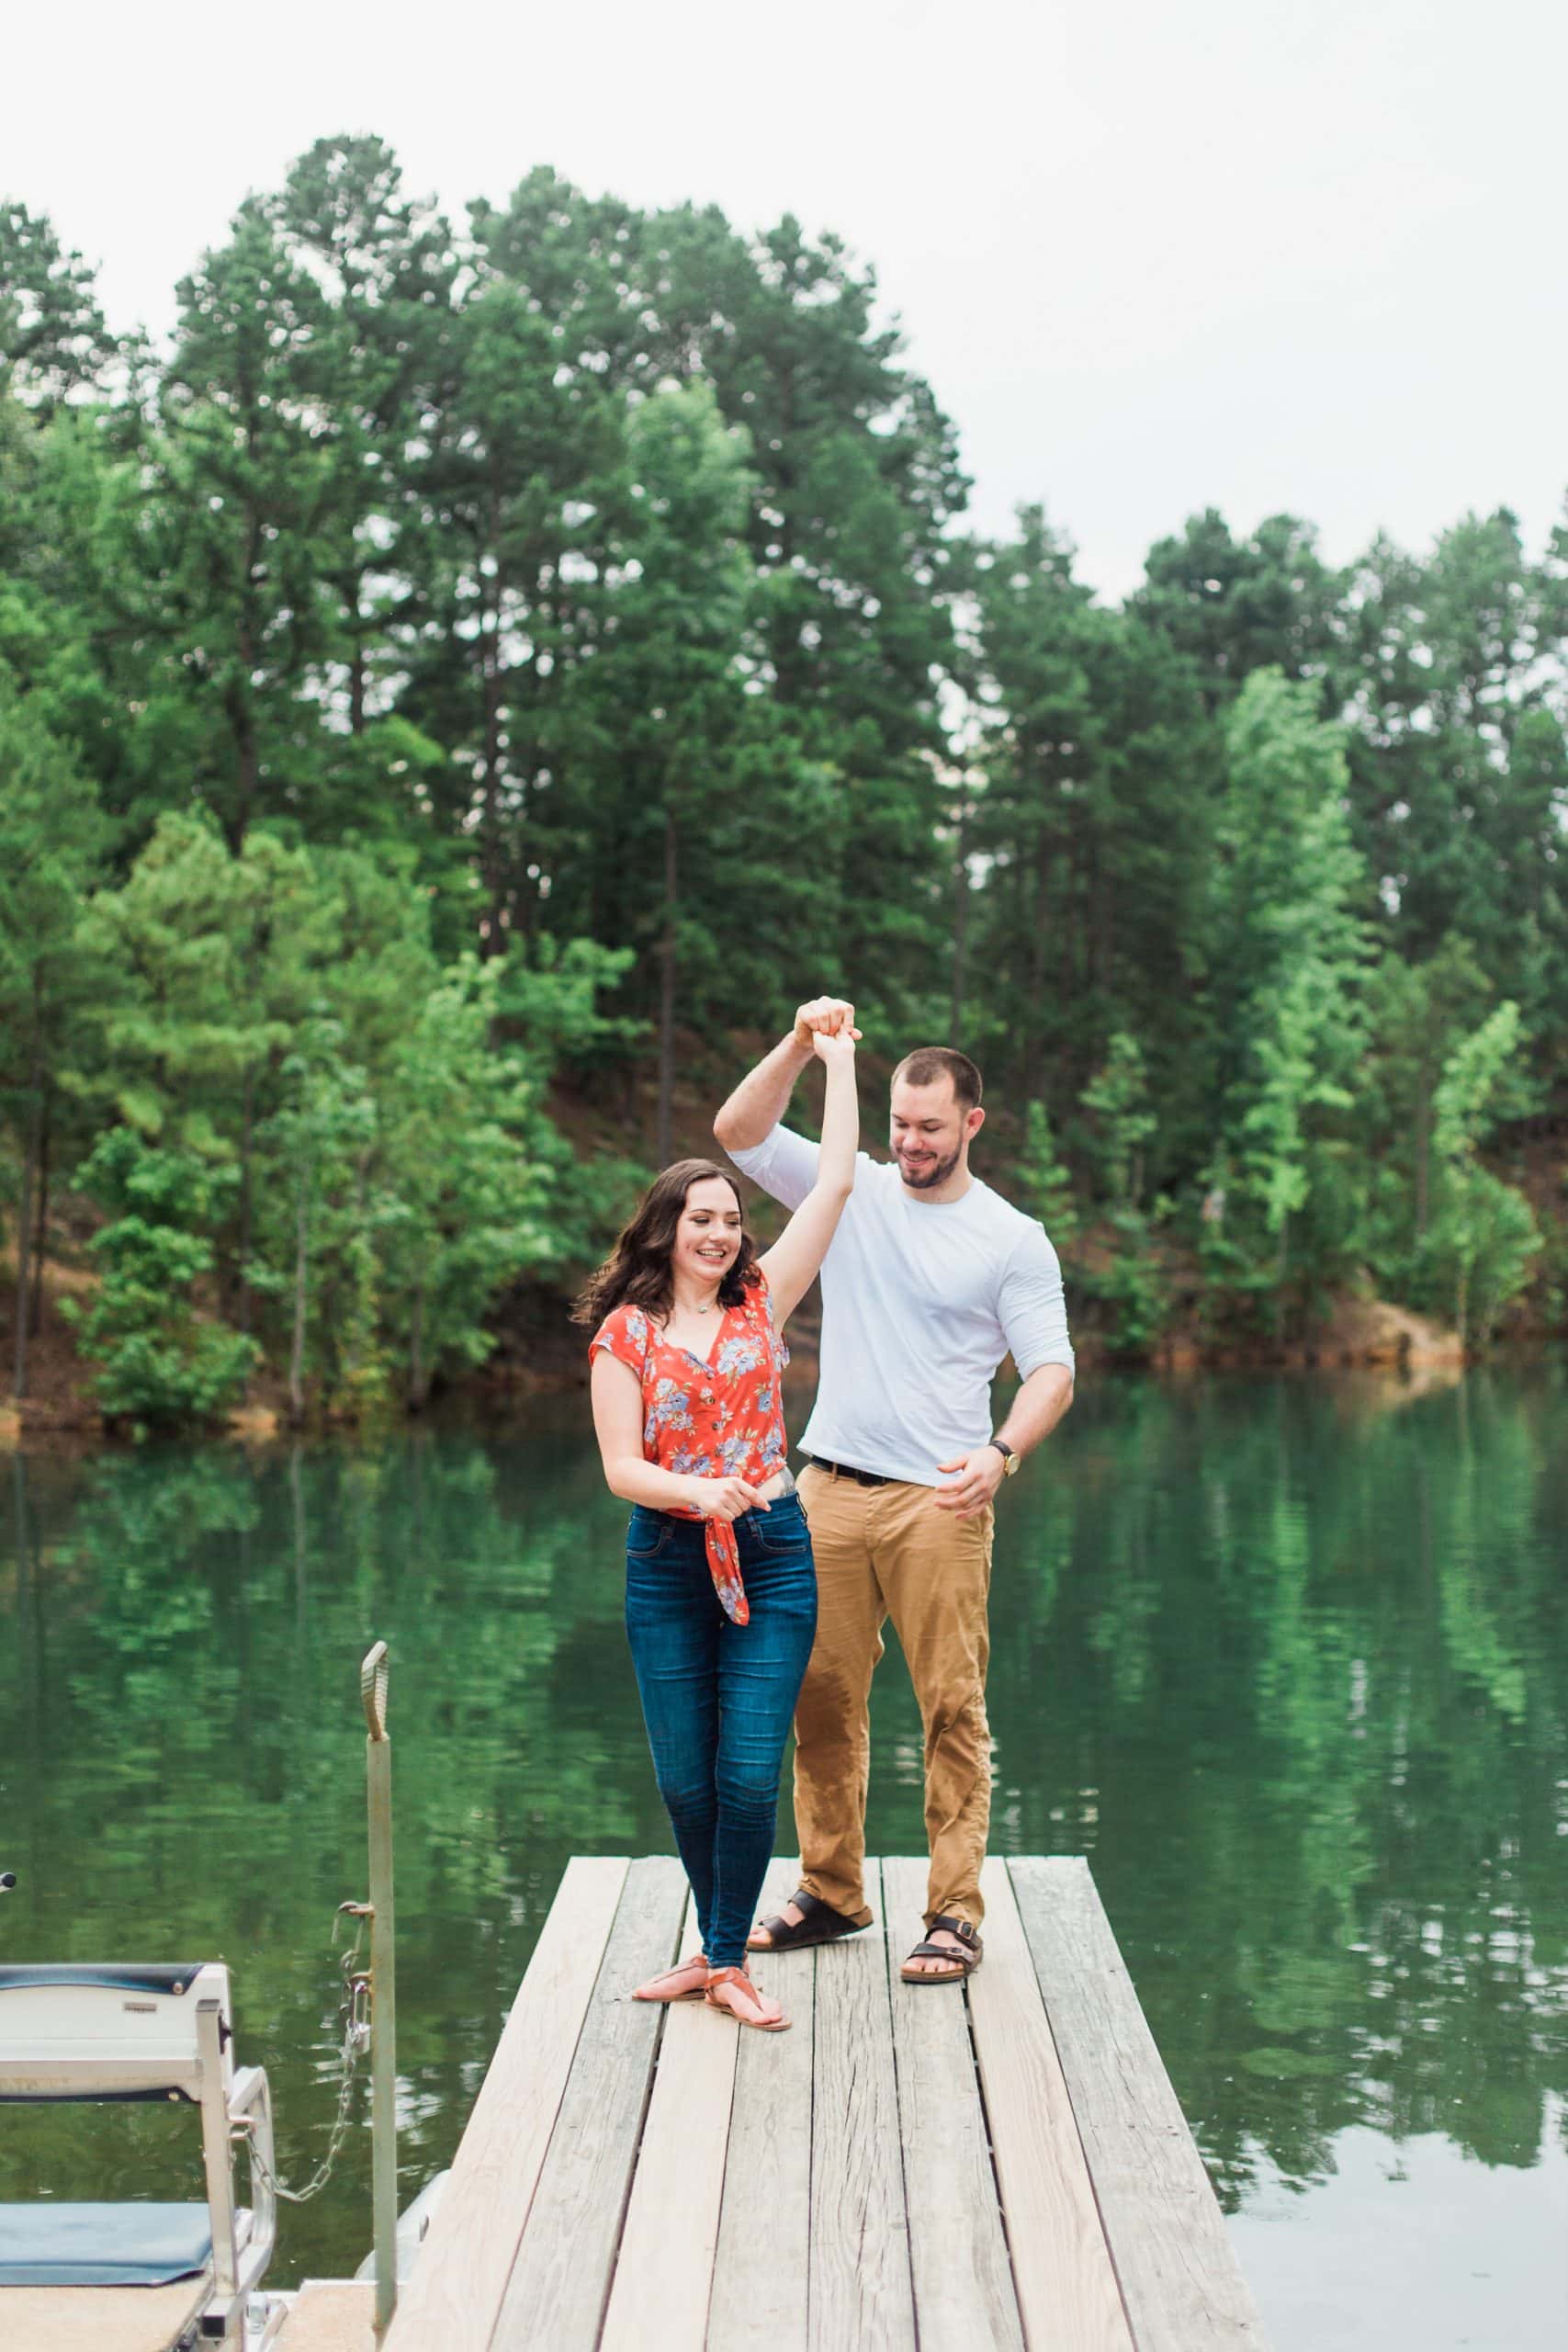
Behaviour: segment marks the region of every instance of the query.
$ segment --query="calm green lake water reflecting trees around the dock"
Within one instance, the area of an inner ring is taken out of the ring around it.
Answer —
[[[294,2178],[390,1642],[407,2201],[567,1856],[670,1851],[583,1399],[33,1456],[2,1503],[0,1957],[228,1959]],[[992,1846],[1091,1856],[1279,2352],[1568,2336],[1566,1531],[1556,1364],[1095,1378],[1001,1496]],[[893,1644],[872,1740],[872,1849],[919,1851]],[[193,2145],[167,2110],[7,2107],[0,2197],[193,2194]],[[357,2265],[367,2157],[355,2129],[284,2209],[273,2284]]]

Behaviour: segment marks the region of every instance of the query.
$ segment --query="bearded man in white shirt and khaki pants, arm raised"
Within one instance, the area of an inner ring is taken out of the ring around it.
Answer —
[[[842,997],[802,1004],[712,1122],[755,1183],[795,1209],[816,1143],[780,1124],[813,1033],[853,1028]],[[823,1369],[802,1449],[818,1628],[795,1710],[802,1889],[750,1950],[830,1943],[870,1926],[865,1790],[882,1625],[910,1665],[926,1731],[926,1938],[912,1983],[959,1983],[980,1962],[990,1828],[985,1599],[992,1498],[1072,1404],[1056,1251],[1034,1218],[971,1176],[985,1124],[980,1073],[947,1047],[893,1070],[893,1164],[865,1155],[823,1263]],[[990,1383],[1013,1355],[1020,1390],[992,1435]]]

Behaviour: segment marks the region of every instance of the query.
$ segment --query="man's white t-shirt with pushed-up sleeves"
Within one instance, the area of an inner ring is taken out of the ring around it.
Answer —
[[[816,1183],[818,1145],[788,1127],[729,1157],[785,1209]],[[860,1152],[823,1261],[823,1369],[804,1451],[938,1486],[938,1463],[990,1437],[990,1383],[1009,1352],[1025,1381],[1041,1364],[1072,1371],[1044,1225],[978,1176],[961,1200],[912,1200],[896,1167]]]

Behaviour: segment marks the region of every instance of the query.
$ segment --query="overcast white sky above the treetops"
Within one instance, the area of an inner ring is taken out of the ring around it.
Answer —
[[[1561,0],[19,0],[0,191],[162,329],[247,188],[388,139],[454,214],[536,162],[797,212],[875,263],[973,515],[1107,593],[1201,506],[1333,560],[1568,487]]]

